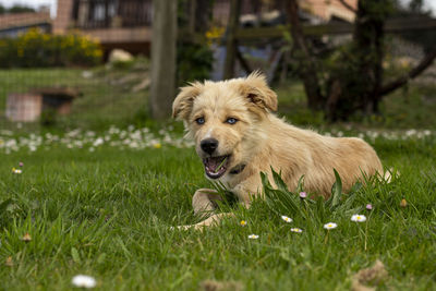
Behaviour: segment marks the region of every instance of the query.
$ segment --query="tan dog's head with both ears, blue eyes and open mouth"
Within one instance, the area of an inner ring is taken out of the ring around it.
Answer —
[[[256,124],[276,110],[277,96],[259,73],[193,83],[181,88],[172,105],[173,117],[184,121],[187,135],[194,138],[209,179],[244,169],[262,134]]]

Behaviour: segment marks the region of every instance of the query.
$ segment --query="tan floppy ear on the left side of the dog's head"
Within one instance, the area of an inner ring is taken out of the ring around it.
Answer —
[[[195,98],[202,94],[203,84],[191,83],[190,86],[181,87],[179,95],[172,102],[172,117],[178,120],[187,120],[192,111]]]

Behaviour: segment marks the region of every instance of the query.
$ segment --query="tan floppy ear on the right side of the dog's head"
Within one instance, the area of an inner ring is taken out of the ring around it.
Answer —
[[[251,73],[241,84],[241,93],[256,106],[277,111],[277,95],[266,83],[265,75],[256,71]]]

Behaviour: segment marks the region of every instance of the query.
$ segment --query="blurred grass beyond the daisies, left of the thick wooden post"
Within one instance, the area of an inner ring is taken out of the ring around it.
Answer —
[[[58,128],[106,129],[109,124],[128,124],[136,114],[146,116],[147,90],[133,90],[148,76],[146,64],[137,68],[107,69],[14,69],[0,70],[0,124],[13,128],[2,117],[11,93],[26,93],[35,88],[73,87],[82,96],[73,102],[69,117],[58,117]],[[92,73],[84,77],[84,72]],[[35,130],[38,124],[24,124]]]

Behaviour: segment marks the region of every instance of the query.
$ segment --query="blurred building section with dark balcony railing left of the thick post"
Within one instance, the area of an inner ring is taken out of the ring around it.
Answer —
[[[149,53],[152,0],[58,0],[55,34],[80,29],[105,51],[122,48]]]

